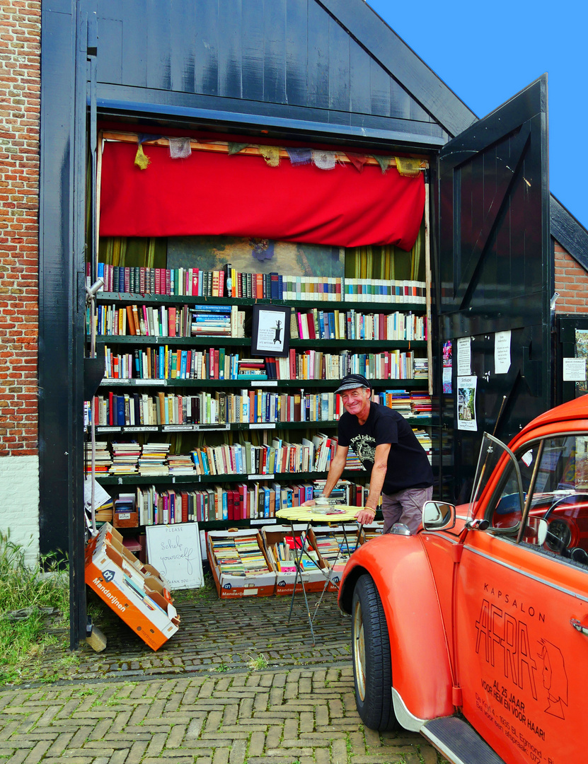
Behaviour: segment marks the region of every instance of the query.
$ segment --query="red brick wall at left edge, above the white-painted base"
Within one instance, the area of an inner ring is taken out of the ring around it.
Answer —
[[[0,0],[0,456],[37,454],[41,0]]]

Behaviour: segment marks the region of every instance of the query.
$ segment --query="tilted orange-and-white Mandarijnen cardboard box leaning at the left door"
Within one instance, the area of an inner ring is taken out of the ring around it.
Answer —
[[[177,632],[180,619],[166,581],[125,548],[109,523],[86,545],[86,584],[152,649]]]

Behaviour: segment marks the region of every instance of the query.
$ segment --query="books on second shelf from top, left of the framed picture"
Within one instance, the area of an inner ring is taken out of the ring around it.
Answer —
[[[96,311],[96,334],[104,336],[244,337],[244,325],[245,312],[235,305],[99,305]]]

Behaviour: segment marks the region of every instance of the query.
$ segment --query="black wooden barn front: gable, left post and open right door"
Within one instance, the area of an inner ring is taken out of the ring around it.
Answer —
[[[482,377],[489,332],[512,329],[520,352],[508,380],[486,380],[479,432],[503,395],[503,437],[550,405],[544,79],[505,105],[502,126],[478,122],[363,0],[44,0],[42,11],[41,552],[72,555],[74,642],[85,630],[86,162],[98,120],[428,154],[436,359],[443,339],[475,335]],[[454,438],[451,398],[440,405],[459,495],[476,438]]]

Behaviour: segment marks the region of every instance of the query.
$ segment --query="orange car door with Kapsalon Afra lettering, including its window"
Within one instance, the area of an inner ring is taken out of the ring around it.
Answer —
[[[584,757],[587,453],[584,430],[503,456],[484,514],[490,527],[464,544],[456,581],[463,714],[507,762]]]

